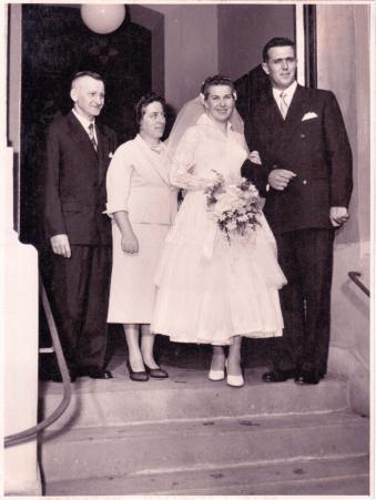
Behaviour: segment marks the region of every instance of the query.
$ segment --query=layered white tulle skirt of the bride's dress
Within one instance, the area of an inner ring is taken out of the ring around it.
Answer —
[[[203,193],[187,193],[157,266],[152,331],[212,345],[282,335],[278,289],[286,280],[263,215],[260,223],[228,243]]]

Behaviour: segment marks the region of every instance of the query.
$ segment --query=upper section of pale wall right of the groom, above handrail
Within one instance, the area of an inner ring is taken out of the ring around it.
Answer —
[[[369,241],[368,11],[367,6],[317,6],[318,86],[336,94],[354,156],[352,218],[338,243]]]

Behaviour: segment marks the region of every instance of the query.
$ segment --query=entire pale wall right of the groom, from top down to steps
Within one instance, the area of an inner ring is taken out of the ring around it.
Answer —
[[[350,384],[356,385],[355,399],[364,400],[369,370],[369,298],[347,274],[360,272],[369,288],[369,20],[368,6],[317,6],[318,86],[336,94],[354,157],[350,220],[335,242],[329,367],[347,371]]]

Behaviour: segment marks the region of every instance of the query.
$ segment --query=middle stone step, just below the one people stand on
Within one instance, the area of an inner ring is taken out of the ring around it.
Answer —
[[[368,420],[347,411],[211,418],[47,431],[41,463],[48,482],[179,468],[366,455]]]

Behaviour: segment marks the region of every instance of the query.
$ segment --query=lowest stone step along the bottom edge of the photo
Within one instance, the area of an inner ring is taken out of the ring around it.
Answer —
[[[47,496],[369,494],[367,456],[314,458],[51,481]]]

